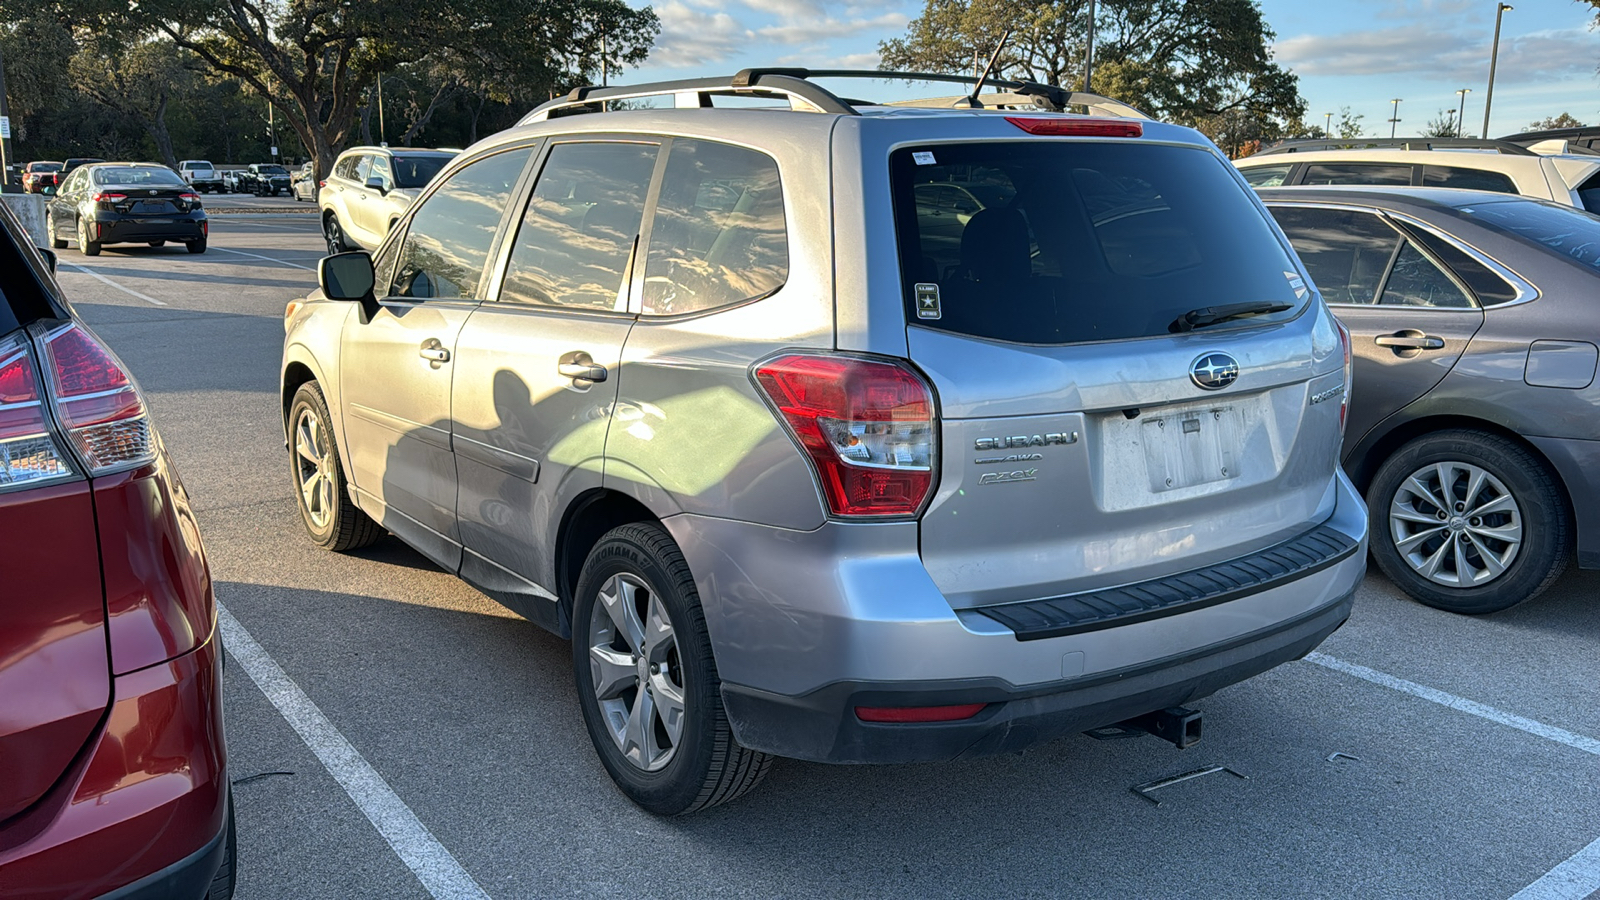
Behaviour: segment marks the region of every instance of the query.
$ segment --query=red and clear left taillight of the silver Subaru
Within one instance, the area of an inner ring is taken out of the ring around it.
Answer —
[[[782,356],[755,381],[800,440],[834,516],[915,516],[938,461],[933,389],[910,368]]]

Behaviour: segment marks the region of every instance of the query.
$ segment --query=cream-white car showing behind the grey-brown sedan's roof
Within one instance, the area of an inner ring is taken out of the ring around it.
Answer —
[[[1357,143],[1360,149],[1326,149]],[[1461,187],[1600,211],[1600,155],[1539,154],[1507,141],[1355,138],[1285,141],[1238,160],[1254,187],[1371,184]]]

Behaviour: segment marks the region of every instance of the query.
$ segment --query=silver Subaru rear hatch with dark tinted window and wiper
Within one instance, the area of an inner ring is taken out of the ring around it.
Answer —
[[[941,412],[922,556],[952,605],[1165,578],[1326,517],[1341,338],[1227,162],[1138,122],[986,119],[1008,135],[890,154]]]

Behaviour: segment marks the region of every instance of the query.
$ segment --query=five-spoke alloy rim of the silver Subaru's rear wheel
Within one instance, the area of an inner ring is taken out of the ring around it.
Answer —
[[[635,769],[672,762],[683,738],[683,666],[667,609],[643,580],[613,575],[595,599],[589,669],[606,733]]]

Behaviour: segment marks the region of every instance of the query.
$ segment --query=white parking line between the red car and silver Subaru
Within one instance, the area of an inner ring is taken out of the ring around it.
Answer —
[[[350,746],[350,741],[261,649],[261,644],[256,644],[250,631],[245,631],[245,626],[222,604],[216,605],[216,615],[229,655],[245,666],[245,674],[277,706],[290,727],[299,733],[306,746],[333,775],[333,780],[344,788],[344,793],[355,801],[355,806],[382,834],[400,862],[422,882],[422,887],[438,900],[488,900],[488,894],[456,862],[456,857],[434,838],[411,812],[411,807],[405,806],[405,801],[394,793],[384,777]]]

